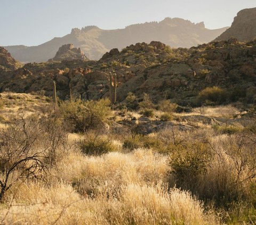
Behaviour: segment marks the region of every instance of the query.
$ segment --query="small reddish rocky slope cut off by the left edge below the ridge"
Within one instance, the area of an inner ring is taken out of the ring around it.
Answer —
[[[0,67],[2,69],[15,70],[21,66],[21,63],[14,60],[11,54],[7,52],[5,48],[0,47]]]

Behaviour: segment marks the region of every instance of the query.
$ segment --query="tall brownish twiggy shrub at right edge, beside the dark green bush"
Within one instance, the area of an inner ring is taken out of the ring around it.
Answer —
[[[251,185],[255,182],[255,135],[221,135],[209,141],[212,157],[198,181],[197,196],[217,207],[255,202]]]

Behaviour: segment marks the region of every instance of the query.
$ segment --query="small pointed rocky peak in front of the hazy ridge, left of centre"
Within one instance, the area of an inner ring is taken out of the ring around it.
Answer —
[[[84,55],[81,48],[76,48],[73,44],[62,45],[59,51],[56,53],[52,61],[62,61],[62,60],[88,60]]]

